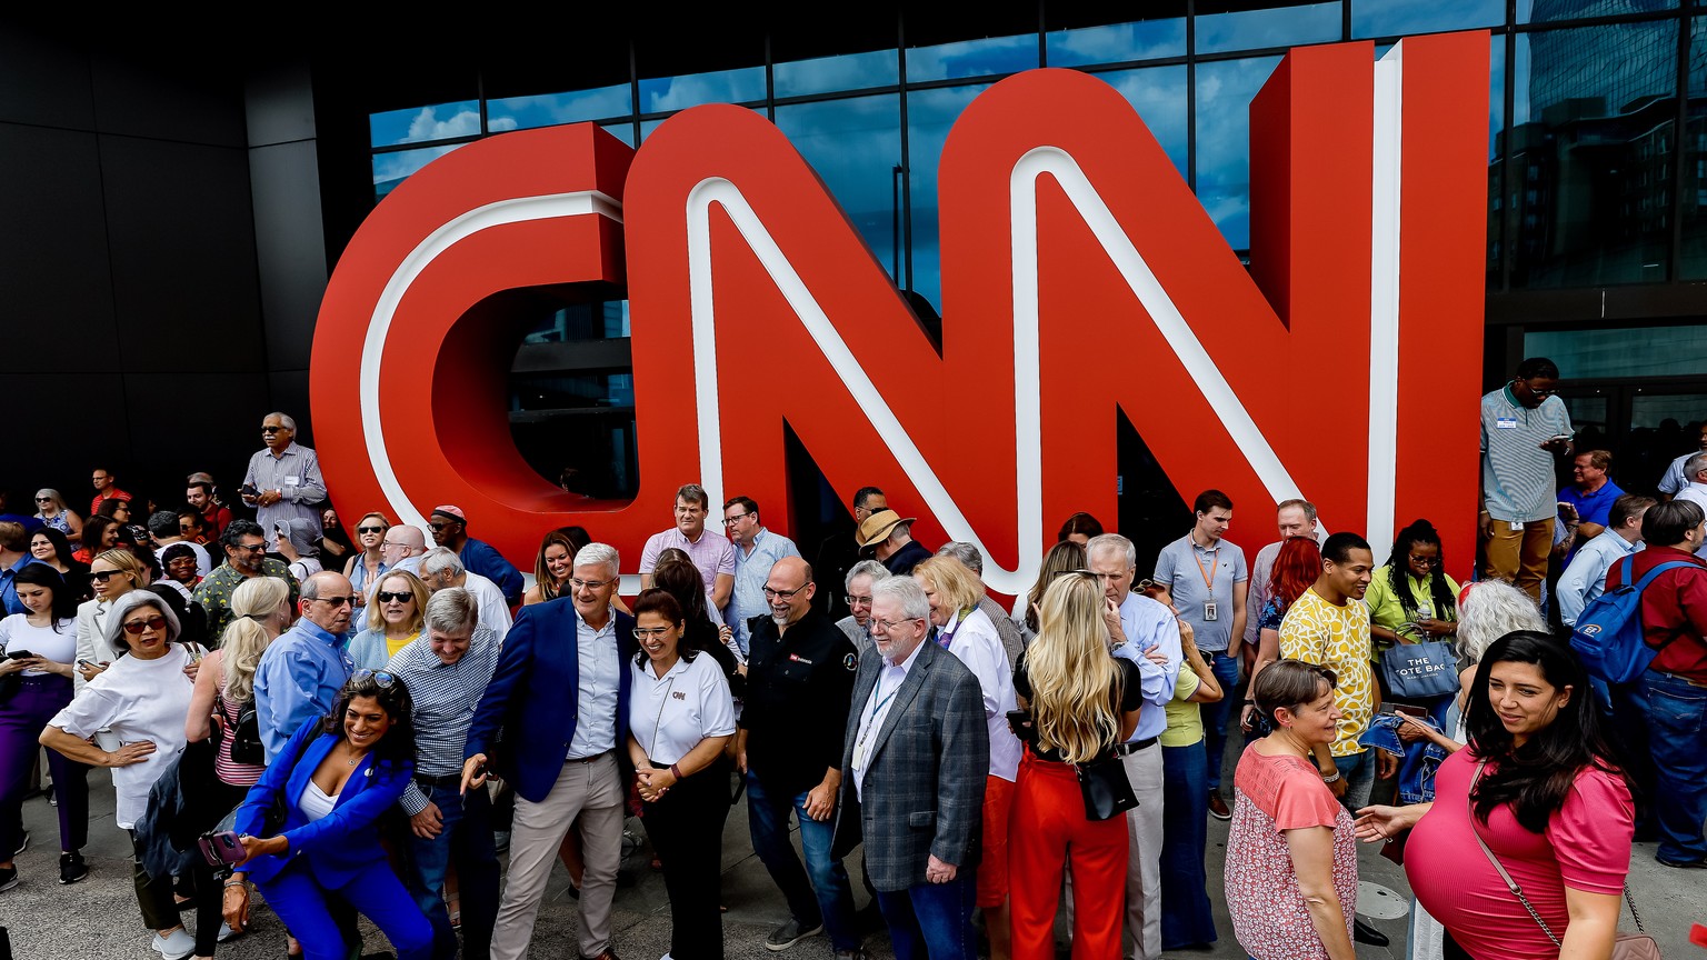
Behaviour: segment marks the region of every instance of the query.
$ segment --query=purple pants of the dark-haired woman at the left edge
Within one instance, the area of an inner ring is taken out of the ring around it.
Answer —
[[[72,702],[68,676],[19,676],[0,700],[0,858],[10,861],[24,839],[24,789],[41,750],[41,729]],[[60,801],[60,849],[89,842],[89,767],[48,750],[53,796]]]

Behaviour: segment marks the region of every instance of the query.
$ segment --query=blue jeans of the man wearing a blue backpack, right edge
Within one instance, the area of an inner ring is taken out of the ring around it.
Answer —
[[[1659,825],[1659,859],[1688,863],[1707,858],[1702,820],[1707,820],[1707,688],[1675,676],[1642,673],[1635,687],[1635,709],[1647,729],[1657,789],[1654,818]]]

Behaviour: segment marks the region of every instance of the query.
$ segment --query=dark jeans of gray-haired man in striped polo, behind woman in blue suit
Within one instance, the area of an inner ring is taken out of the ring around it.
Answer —
[[[485,957],[492,950],[492,928],[498,919],[498,854],[492,846],[492,801],[485,787],[459,796],[457,786],[427,787],[427,799],[439,806],[444,828],[430,840],[410,832],[410,897],[432,922],[434,960],[456,957],[456,931],[451,929],[451,912],[444,905],[444,875],[454,861],[464,953]]]

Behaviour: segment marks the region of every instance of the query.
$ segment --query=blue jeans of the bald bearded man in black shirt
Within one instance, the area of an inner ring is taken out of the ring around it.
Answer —
[[[789,842],[789,811],[801,822],[801,849],[806,851],[806,869],[794,856]],[[765,789],[754,770],[748,770],[748,825],[753,830],[753,852],[765,861],[765,869],[777,881],[789,912],[807,929],[824,924],[833,950],[859,950],[854,929],[854,890],[842,861],[830,856],[835,818],[818,822],[806,815],[806,791],[777,794]],[[811,871],[811,880],[807,880]]]

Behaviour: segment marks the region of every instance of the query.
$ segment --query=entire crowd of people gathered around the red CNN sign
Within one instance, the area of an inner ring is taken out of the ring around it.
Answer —
[[[403,960],[516,960],[560,861],[577,955],[615,960],[628,817],[666,960],[717,960],[743,793],[775,951],[864,955],[857,856],[903,960],[1052,958],[1062,910],[1075,958],[1232,934],[1345,960],[1386,941],[1355,919],[1364,840],[1403,859],[1412,957],[1610,957],[1637,835],[1707,866],[1707,430],[1664,502],[1627,495],[1572,449],[1557,378],[1526,360],[1483,398],[1465,586],[1427,519],[1378,564],[1302,499],[1246,562],[1205,490],[1149,577],[1081,512],[1004,608],[976,547],[913,540],[876,487],[807,562],[749,497],[708,530],[688,483],[621,598],[618,550],[580,526],[545,533],[531,584],[454,504],[345,530],[282,413],[241,506],[191,475],[160,509],[99,468],[87,518],[56,490],[0,518],[0,892],[34,880],[10,858],[46,746],[58,881],[89,875],[87,770],[109,767],[167,960],[213,957],[263,904],[294,957],[347,957],[360,914]],[[1569,630],[1639,581],[1652,663],[1606,683]]]

